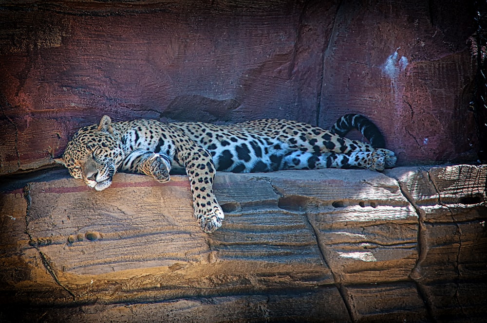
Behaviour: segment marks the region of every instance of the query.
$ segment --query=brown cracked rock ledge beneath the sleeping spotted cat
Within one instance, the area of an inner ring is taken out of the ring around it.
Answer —
[[[65,170],[2,186],[2,322],[482,322],[487,167],[219,173],[200,231],[185,176]]]

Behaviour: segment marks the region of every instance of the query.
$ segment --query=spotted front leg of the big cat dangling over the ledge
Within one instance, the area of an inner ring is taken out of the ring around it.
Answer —
[[[176,157],[183,162],[193,194],[194,216],[206,233],[222,225],[224,213],[213,194],[215,166],[211,155],[196,143],[182,144]]]

